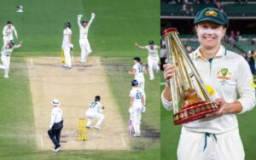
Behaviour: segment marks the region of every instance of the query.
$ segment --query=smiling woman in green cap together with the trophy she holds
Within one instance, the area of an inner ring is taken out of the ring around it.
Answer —
[[[200,47],[184,57],[173,54],[183,50],[179,48],[179,38],[168,40],[170,32],[176,29],[164,32],[166,42],[172,43],[170,47],[166,45],[172,55],[170,63],[164,66],[166,88],[161,100],[166,110],[174,111],[174,123],[183,124],[177,159],[242,160],[245,153],[236,114],[255,106],[250,68],[241,55],[221,45],[229,26],[226,14],[218,9],[202,9],[195,15],[194,24]],[[177,108],[179,100],[182,109]]]

